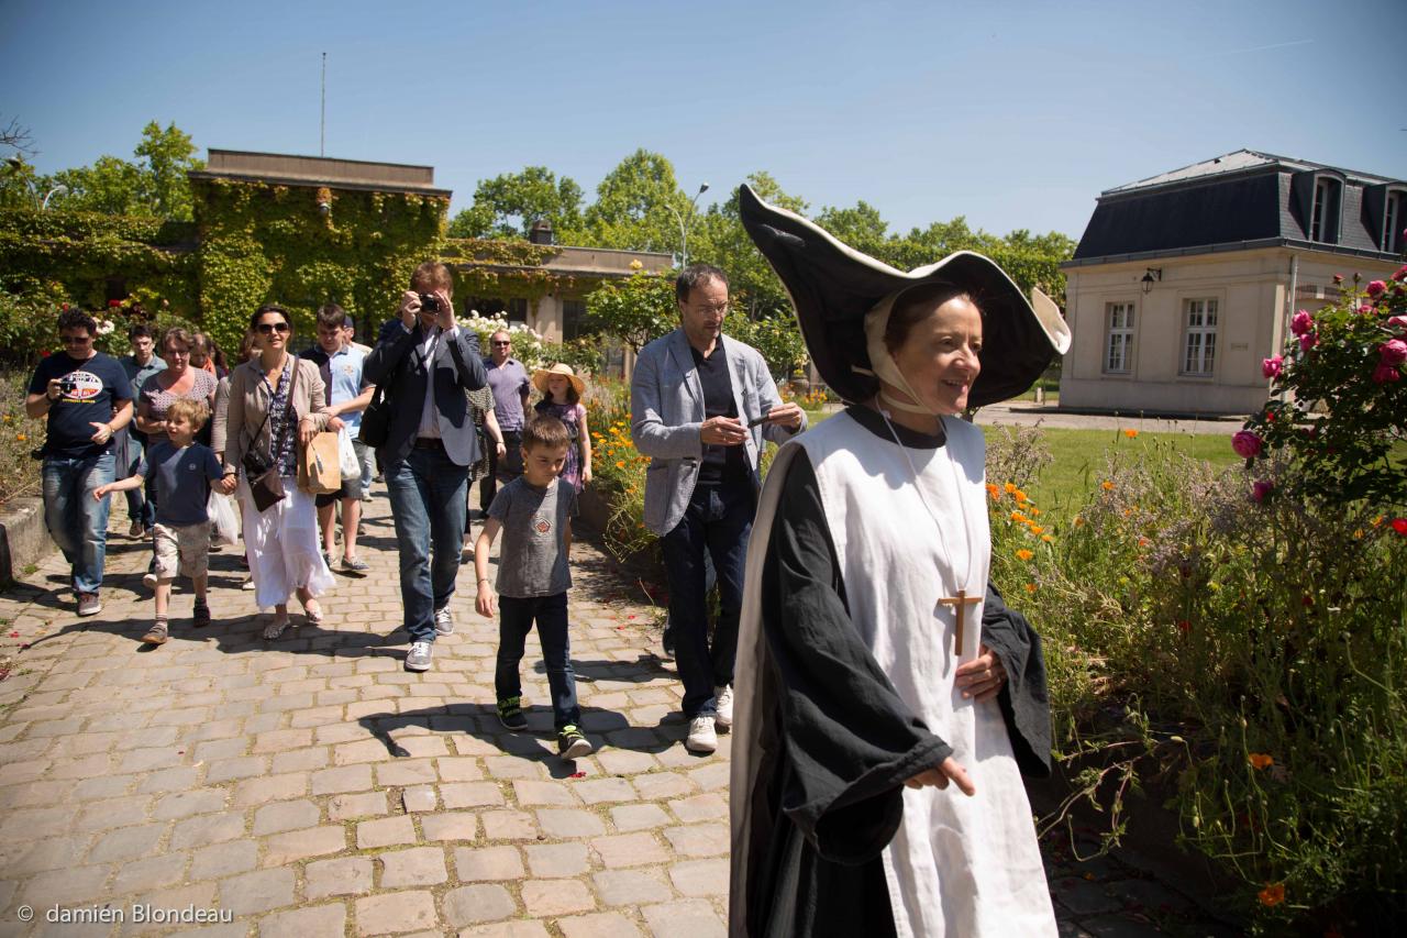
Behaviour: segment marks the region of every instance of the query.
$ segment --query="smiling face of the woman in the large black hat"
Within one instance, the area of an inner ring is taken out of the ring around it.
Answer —
[[[929,410],[955,414],[982,363],[982,314],[967,297],[953,297],[909,330],[895,363]]]

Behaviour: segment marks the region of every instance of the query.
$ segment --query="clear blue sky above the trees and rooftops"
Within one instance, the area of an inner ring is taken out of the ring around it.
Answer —
[[[1102,189],[1240,149],[1407,177],[1400,0],[0,0],[0,118],[41,172],[201,148],[428,163],[469,204],[639,146],[723,197],[1079,237]]]

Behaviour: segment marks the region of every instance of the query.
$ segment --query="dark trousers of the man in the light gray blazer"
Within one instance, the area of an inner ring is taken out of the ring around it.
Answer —
[[[670,580],[674,658],[684,682],[684,715],[718,713],[713,689],[733,683],[743,568],[757,499],[751,487],[695,489],[684,518],[660,539]],[[705,551],[718,573],[719,615],[708,641]]]

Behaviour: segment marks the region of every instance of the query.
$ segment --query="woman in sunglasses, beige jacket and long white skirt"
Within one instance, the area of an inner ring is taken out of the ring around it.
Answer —
[[[328,411],[318,366],[288,352],[293,338],[288,313],[272,303],[260,306],[249,328],[259,356],[229,373],[225,420],[215,428],[212,448],[224,454],[221,490],[239,492],[255,601],[260,608],[274,610],[263,631],[273,641],[293,624],[288,597],[294,593],[308,624],[321,625],[317,597],[333,583],[318,544],[312,496],[295,483],[298,449],[326,428]],[[249,486],[265,468],[277,469],[284,494],[260,511]]]

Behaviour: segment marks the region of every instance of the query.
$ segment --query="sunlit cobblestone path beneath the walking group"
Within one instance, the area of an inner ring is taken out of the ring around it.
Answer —
[[[682,748],[640,590],[574,546],[573,659],[598,751],[564,763],[535,641],[529,730],[498,724],[497,625],[473,611],[473,568],[433,670],[402,670],[376,492],[370,575],[339,573],[322,627],[277,642],[259,637],[269,617],[227,548],[211,565],[214,625],[189,625],[179,589],[172,641],[144,648],[148,548],[117,534],[121,508],[100,615],[75,615],[56,554],[0,597],[0,935],[725,932],[729,738],[708,758]],[[1064,934],[1196,921],[1114,861],[1052,853],[1051,880]],[[75,911],[111,920],[52,921]],[[136,921],[182,913],[228,921]]]

